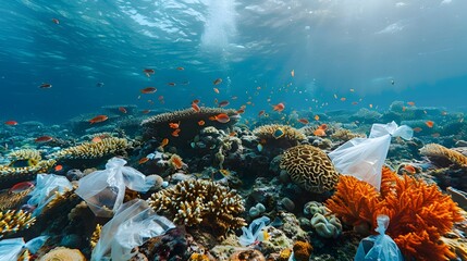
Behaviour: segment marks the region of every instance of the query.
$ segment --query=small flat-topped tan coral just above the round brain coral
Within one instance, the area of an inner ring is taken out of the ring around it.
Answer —
[[[274,133],[278,130],[282,132],[282,136],[274,136]],[[305,134],[299,132],[298,129],[291,127],[288,125],[281,124],[270,124],[262,125],[255,129],[253,129],[253,134],[257,136],[259,139],[275,140],[275,139],[286,139],[288,141],[298,144],[298,141],[306,139]]]

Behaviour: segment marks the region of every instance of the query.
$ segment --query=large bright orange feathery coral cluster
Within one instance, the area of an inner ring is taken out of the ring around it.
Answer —
[[[342,221],[376,227],[379,214],[390,217],[386,234],[404,256],[417,260],[448,260],[455,254],[440,237],[463,221],[459,208],[435,185],[383,169],[381,191],[352,176],[342,176],[327,207]]]

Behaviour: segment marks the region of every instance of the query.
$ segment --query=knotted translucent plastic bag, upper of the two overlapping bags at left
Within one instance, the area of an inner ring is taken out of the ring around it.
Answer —
[[[143,173],[125,164],[125,160],[112,158],[106,170],[95,171],[79,179],[76,194],[95,215],[111,217],[123,203],[125,187],[146,192],[153,186],[155,179],[146,179]]]

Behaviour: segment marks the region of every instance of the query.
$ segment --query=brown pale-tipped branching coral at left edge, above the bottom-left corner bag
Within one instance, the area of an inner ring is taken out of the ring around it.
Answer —
[[[21,229],[27,229],[34,225],[35,222],[36,217],[34,217],[32,213],[23,210],[0,212],[0,238]]]

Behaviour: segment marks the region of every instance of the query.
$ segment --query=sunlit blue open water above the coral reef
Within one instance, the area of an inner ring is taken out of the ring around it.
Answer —
[[[182,109],[195,98],[251,101],[246,115],[279,102],[286,112],[394,100],[466,110],[465,10],[460,0],[9,0],[0,120],[62,123],[102,105]],[[158,91],[139,92],[149,86]]]

